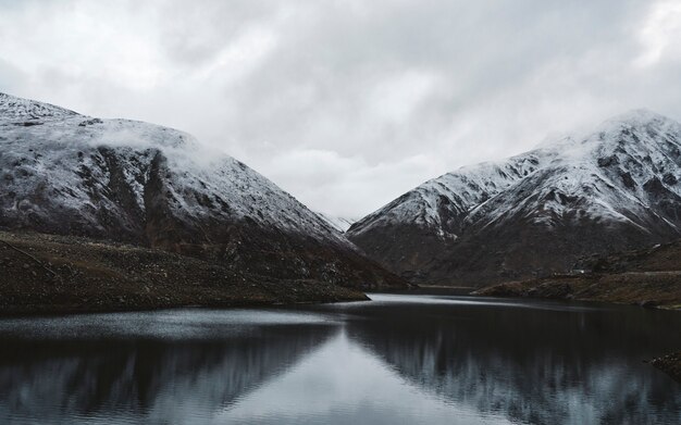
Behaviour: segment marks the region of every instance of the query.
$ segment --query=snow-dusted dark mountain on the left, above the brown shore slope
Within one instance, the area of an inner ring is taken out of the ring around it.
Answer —
[[[0,182],[4,228],[132,242],[281,278],[391,276],[272,182],[172,128],[0,93]]]

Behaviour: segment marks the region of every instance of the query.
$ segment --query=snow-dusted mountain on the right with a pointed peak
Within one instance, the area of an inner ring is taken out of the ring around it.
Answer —
[[[681,237],[681,125],[645,110],[429,180],[347,232],[417,283],[474,285]]]

